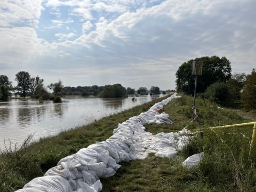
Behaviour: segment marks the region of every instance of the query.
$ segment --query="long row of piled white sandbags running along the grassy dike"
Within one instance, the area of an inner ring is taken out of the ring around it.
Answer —
[[[80,149],[76,154],[62,158],[44,177],[31,180],[18,191],[101,191],[102,183],[99,178],[114,175],[121,166],[119,162],[143,159],[148,153],[173,157],[177,154],[177,148],[182,147],[182,140],[186,140],[180,137],[181,132],[153,135],[145,132],[143,126],[156,118],[156,115],[158,120],[161,119],[159,110],[173,98],[177,98],[177,95],[173,94],[162,102],[155,103],[147,112],[119,124],[106,141],[96,142]],[[164,121],[167,121],[166,115],[163,116]]]

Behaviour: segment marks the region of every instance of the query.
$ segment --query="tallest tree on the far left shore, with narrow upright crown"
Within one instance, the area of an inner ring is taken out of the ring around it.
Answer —
[[[15,89],[20,91],[21,96],[25,98],[29,91],[29,83],[30,83],[29,73],[25,71],[20,71],[18,74],[15,75],[15,81],[18,82]]]

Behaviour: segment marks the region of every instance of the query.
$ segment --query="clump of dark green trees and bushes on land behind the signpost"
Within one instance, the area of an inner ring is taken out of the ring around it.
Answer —
[[[251,74],[231,74],[231,65],[226,57],[201,57],[194,60],[203,62],[201,76],[197,76],[199,97],[217,102],[222,106],[242,105],[247,110],[256,108],[256,71]],[[176,72],[176,89],[188,95],[194,95],[195,76],[192,75],[192,63],[183,63]]]

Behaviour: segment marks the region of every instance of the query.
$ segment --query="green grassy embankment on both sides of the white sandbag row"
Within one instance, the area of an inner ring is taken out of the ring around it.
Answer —
[[[100,119],[90,125],[44,138],[0,156],[0,191],[13,191],[23,187],[34,177],[42,176],[59,159],[77,150],[103,141],[112,135],[118,123],[147,111],[157,99],[123,113]],[[174,122],[171,125],[145,125],[151,133],[177,132],[191,121],[193,98],[183,95],[168,103],[163,111]],[[198,118],[188,129],[249,122],[234,111],[217,108],[214,103],[197,99]],[[122,163],[110,178],[101,179],[102,191],[256,191],[255,161],[248,158],[252,127],[206,130],[190,139],[190,144],[173,158],[159,158],[151,154],[145,160]],[[204,151],[201,164],[187,170],[182,162],[188,156]],[[252,154],[254,156],[254,154]]]

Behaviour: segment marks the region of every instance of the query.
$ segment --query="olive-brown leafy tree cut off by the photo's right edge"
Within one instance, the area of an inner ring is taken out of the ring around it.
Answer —
[[[246,76],[243,92],[241,94],[242,104],[247,110],[256,108],[255,95],[256,95],[256,71],[255,69],[253,69],[252,73]]]

